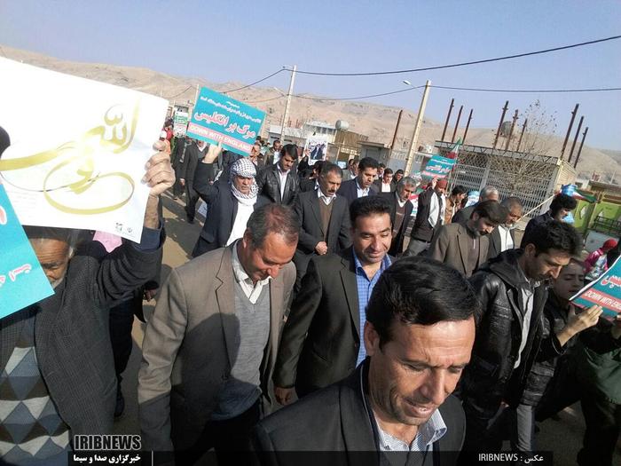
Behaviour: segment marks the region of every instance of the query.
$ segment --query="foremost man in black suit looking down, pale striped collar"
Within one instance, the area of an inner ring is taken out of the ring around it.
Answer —
[[[373,464],[405,452],[402,464],[454,464],[465,417],[451,392],[470,360],[480,311],[459,272],[424,257],[398,260],[368,304],[366,360],[340,383],[259,422],[255,449],[343,452],[349,464],[360,462],[354,452],[378,452]],[[259,458],[278,464],[281,456]]]

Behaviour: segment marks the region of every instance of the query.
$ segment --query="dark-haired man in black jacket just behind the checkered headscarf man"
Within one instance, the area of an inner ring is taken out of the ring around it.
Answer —
[[[259,195],[276,204],[293,205],[300,190],[300,181],[294,170],[297,160],[297,146],[287,144],[280,150],[278,163],[262,170],[256,177]]]

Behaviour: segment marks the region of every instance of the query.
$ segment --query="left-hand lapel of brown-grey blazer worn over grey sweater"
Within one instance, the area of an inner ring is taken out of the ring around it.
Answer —
[[[222,329],[224,333],[224,344],[226,344],[226,352],[229,357],[229,364],[232,367],[237,357],[236,333],[237,325],[235,319],[222,318],[224,315],[234,316],[235,314],[235,293],[233,291],[233,280],[235,280],[232,272],[232,248],[235,247],[237,241],[224,249],[220,268],[216,273],[216,280],[220,281],[216,285],[216,300],[218,311],[222,320]]]

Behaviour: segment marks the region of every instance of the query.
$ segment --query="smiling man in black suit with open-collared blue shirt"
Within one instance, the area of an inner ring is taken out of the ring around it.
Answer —
[[[274,371],[281,404],[350,375],[365,359],[366,304],[391,264],[390,206],[379,196],[350,205],[353,246],[313,257],[285,323]]]

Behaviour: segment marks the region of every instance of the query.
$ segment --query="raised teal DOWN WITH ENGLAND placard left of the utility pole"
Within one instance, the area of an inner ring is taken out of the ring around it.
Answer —
[[[265,112],[258,108],[203,87],[187,135],[209,144],[221,144],[224,150],[248,155],[264,119]]]

